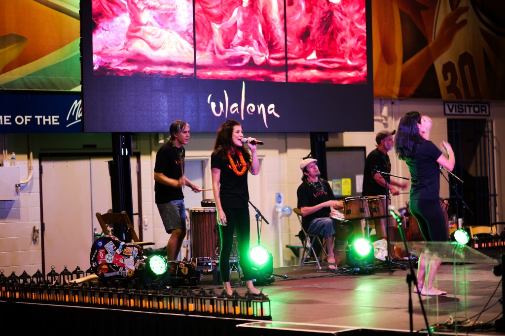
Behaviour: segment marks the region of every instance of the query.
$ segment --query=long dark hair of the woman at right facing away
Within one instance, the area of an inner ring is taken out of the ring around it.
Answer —
[[[417,124],[421,123],[421,113],[410,111],[405,113],[398,123],[394,137],[394,150],[400,160],[406,160],[417,153],[419,144],[426,140],[421,137]]]

